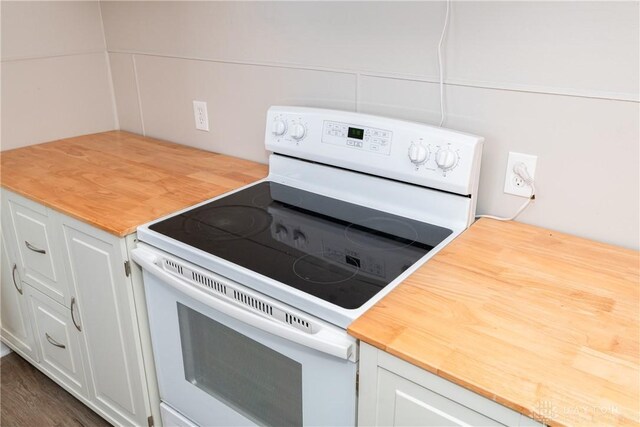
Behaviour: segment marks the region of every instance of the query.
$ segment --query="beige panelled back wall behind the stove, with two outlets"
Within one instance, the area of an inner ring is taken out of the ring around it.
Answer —
[[[266,161],[271,104],[439,119],[442,2],[101,5],[125,129]],[[638,2],[453,2],[445,125],[486,137],[481,213],[514,212],[508,152],[535,154],[521,221],[639,247],[638,16]]]

